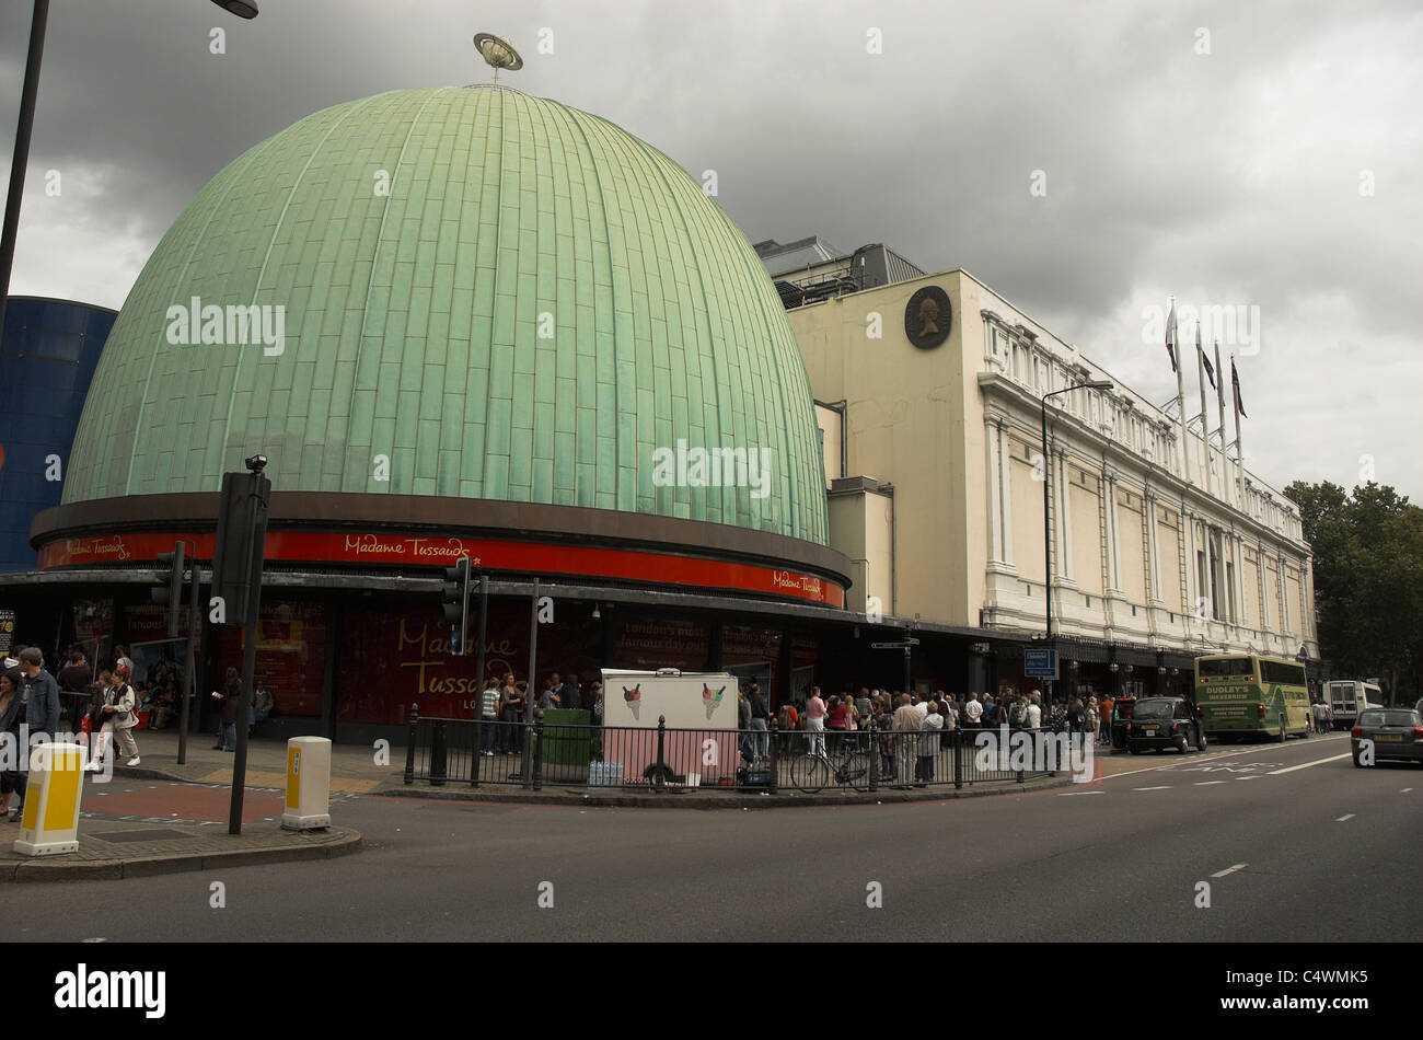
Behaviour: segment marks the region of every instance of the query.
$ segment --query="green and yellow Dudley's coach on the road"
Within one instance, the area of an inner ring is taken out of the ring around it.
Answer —
[[[1286,657],[1222,653],[1195,659],[1195,706],[1205,733],[1285,743],[1313,726],[1305,666]]]

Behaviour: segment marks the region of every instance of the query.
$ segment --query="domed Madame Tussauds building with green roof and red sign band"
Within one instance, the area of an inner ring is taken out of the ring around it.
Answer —
[[[538,683],[727,667],[781,700],[874,679],[838,674],[851,568],[776,289],[699,184],[602,118],[393,91],[218,174],[108,339],[37,571],[6,589],[20,632],[157,660],[155,558],[211,559],[222,474],[258,452],[258,680],[282,728],[472,714],[475,656],[440,620],[465,555],[491,674],[528,677],[536,578]],[[240,640],[205,626],[205,687]]]

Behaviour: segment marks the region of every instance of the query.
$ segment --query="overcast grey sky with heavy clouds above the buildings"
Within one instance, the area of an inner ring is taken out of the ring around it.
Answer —
[[[342,101],[487,81],[471,37],[494,31],[525,58],[505,83],[714,169],[750,240],[963,267],[1150,400],[1175,383],[1144,309],[1258,307],[1247,467],[1350,488],[1372,462],[1423,499],[1416,0],[259,6],[55,0],[13,293],[120,307],[242,151]],[[28,9],[0,4],[6,178]]]

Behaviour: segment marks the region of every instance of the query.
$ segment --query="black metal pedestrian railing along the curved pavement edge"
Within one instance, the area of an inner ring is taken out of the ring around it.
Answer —
[[[1091,764],[1081,734],[680,730],[438,718],[411,706],[406,784],[653,791],[877,791],[1025,782]]]

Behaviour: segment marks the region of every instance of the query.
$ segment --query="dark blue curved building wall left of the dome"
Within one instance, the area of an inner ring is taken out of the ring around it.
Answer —
[[[70,445],[117,310],[11,296],[0,336],[0,572],[33,571],[30,521],[60,504]]]

